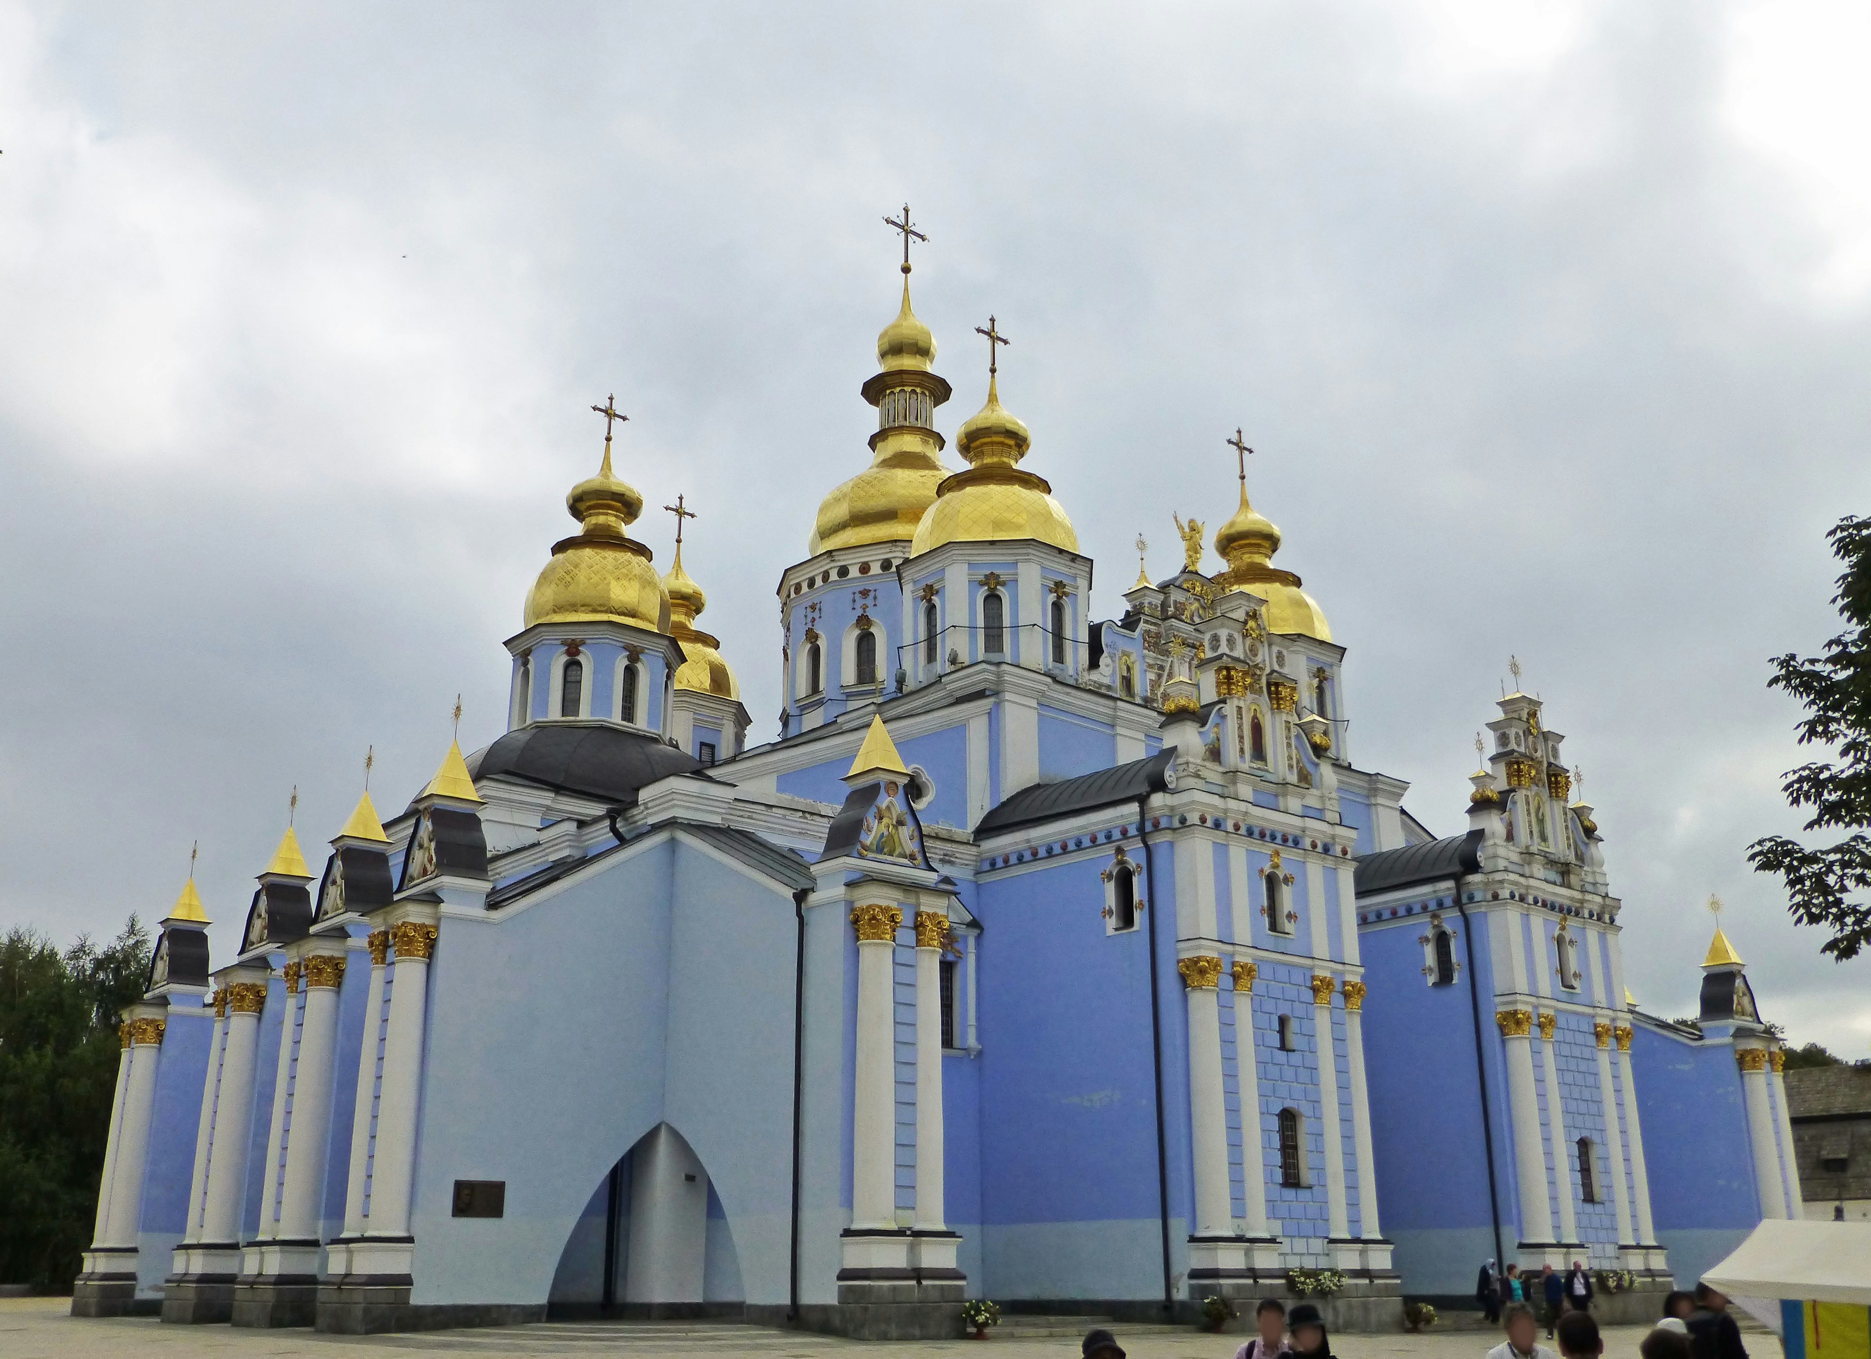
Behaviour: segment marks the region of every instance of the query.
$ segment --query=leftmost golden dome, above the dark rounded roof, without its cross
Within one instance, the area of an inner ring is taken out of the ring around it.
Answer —
[[[526,596],[526,624],[634,622],[670,630],[670,596],[649,563],[649,548],[625,535],[644,512],[644,497],[610,469],[610,437],[597,477],[578,482],[565,510],[580,522],[571,538],[552,544],[552,561]]]

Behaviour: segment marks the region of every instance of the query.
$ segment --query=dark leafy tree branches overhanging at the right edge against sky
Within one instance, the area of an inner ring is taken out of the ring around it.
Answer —
[[[1871,888],[1871,520],[1847,514],[1826,538],[1845,563],[1832,602],[1849,626],[1826,643],[1824,656],[1774,660],[1768,688],[1806,707],[1802,746],[1835,751],[1832,761],[1787,772],[1787,802],[1811,809],[1806,830],[1849,834],[1820,849],[1766,836],[1748,847],[1748,862],[1785,880],[1792,918],[1830,929],[1822,951],[1843,961],[1871,942],[1871,905],[1862,895]]]

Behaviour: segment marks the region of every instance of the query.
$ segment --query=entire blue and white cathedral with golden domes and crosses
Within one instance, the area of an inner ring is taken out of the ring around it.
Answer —
[[[997,359],[937,430],[896,226],[870,462],[778,576],[778,738],[593,408],[503,735],[322,864],[288,826],[236,955],[193,880],[163,920],[75,1314],[909,1338],[1312,1292],[1379,1331],[1497,1258],[1635,1320],[1802,1215],[1742,959],[1718,929],[1695,1023],[1630,996],[1540,699],[1407,811],[1239,432],[1233,512],[1096,619]]]

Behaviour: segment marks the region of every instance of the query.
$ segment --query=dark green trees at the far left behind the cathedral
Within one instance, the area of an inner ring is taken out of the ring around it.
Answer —
[[[60,953],[30,929],[0,938],[0,1282],[71,1288],[92,1239],[118,1011],[142,994],[150,933]]]

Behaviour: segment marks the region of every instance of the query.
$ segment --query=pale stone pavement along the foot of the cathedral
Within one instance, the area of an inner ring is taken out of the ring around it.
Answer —
[[[771,1331],[718,1322],[565,1322],[509,1325],[473,1331],[427,1331],[415,1335],[318,1335],[314,1331],[236,1331],[228,1325],[163,1325],[153,1318],[107,1322],[73,1320],[69,1297],[0,1299],[0,1355],[6,1359],[481,1359],[483,1355],[578,1355],[584,1359],[692,1359],[713,1353],[756,1353],[775,1359],[819,1359],[870,1352],[887,1359],[952,1355],[954,1359],[1076,1359],[1080,1323],[1085,1318],[1008,1318],[990,1331],[986,1344],[973,1340],[922,1340],[866,1344],[812,1335]],[[1168,1325],[1111,1325],[1132,1359],[1231,1359],[1239,1335],[1203,1335]],[[1637,1342],[1648,1327],[1620,1325],[1605,1331],[1607,1359],[1637,1359]],[[1334,1337],[1338,1359],[1482,1359],[1493,1335],[1446,1331],[1429,1335]],[[1751,1333],[1753,1359],[1779,1359],[1772,1335]],[[374,1353],[344,1355],[344,1348]]]

